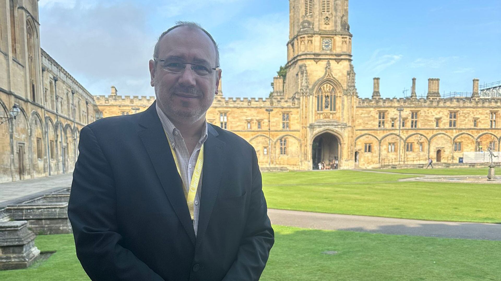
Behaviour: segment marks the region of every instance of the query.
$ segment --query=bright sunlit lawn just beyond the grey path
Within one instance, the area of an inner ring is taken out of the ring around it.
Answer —
[[[499,184],[397,181],[352,170],[263,173],[268,207],[426,220],[501,223]]]

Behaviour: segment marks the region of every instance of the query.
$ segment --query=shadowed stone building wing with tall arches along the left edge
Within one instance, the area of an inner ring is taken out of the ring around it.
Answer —
[[[71,172],[96,102],[40,48],[37,0],[0,1],[0,13],[0,182]]]

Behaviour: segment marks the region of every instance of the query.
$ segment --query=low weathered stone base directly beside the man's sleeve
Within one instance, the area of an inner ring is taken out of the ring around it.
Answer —
[[[44,199],[39,197],[26,203],[8,206],[11,218],[27,220],[28,227],[37,234],[72,233],[68,219],[68,202],[32,202],[35,200]]]

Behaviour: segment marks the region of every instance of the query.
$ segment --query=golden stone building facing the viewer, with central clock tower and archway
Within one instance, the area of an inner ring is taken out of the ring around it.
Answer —
[[[441,97],[438,78],[426,97],[382,98],[374,78],[372,98],[359,98],[352,64],[348,0],[290,0],[285,77],[274,77],[270,98],[220,94],[207,121],[252,144],[261,167],[314,169],[338,159],[339,168],[457,163],[463,152],[499,150],[501,85]],[[384,81],[383,81],[384,82]],[[96,96],[103,115],[144,110],[150,99]],[[133,110],[133,107],[140,108]]]

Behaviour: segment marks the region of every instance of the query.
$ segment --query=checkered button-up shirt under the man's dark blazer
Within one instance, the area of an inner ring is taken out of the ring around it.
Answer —
[[[158,103],[156,104],[156,110],[158,113],[158,117],[160,118],[160,122],[162,122],[163,129],[167,133],[167,137],[169,138],[170,144],[176,153],[177,160],[179,161],[179,170],[181,172],[181,179],[184,184],[184,188],[186,192],[189,190],[189,185],[191,183],[191,176],[193,175],[193,171],[195,170],[196,160],[198,158],[198,153],[200,152],[200,148],[202,144],[207,139],[207,121],[203,122],[202,135],[200,136],[200,140],[193,149],[193,153],[191,155],[188,152],[188,148],[186,148],[186,143],[184,142],[184,138],[181,136],[181,132],[174,126],[174,124],[167,118],[165,113],[158,107]],[[170,149],[166,147],[165,149]],[[203,168],[202,168],[203,171]],[[202,178],[198,181],[198,189],[195,194],[195,202],[193,204],[193,229],[195,230],[195,235],[198,230],[198,213],[200,211],[200,192],[202,189]]]

